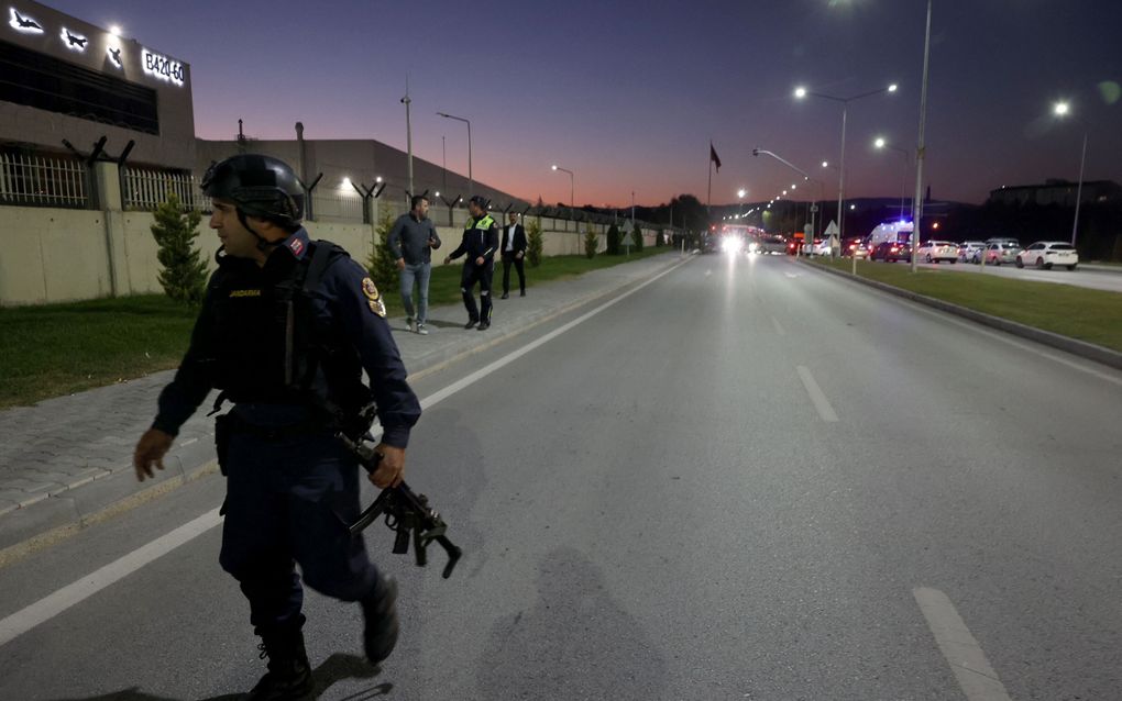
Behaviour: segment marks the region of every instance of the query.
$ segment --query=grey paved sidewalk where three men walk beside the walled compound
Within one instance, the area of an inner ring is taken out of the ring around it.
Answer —
[[[579,278],[534,285],[525,297],[515,293],[499,299],[496,295],[491,328],[485,332],[465,330],[467,313],[462,305],[454,305],[430,310],[426,336],[410,333],[402,317],[390,320],[394,336],[415,378],[650,279],[680,260],[669,251]],[[532,269],[526,277],[533,280]],[[392,299],[396,296],[396,290],[384,292]],[[132,448],[150,425],[159,390],[173,373],[156,372],[0,412],[0,566],[68,531],[215,471],[213,421],[206,417],[212,396],[183,425],[157,479],[141,485],[134,477]]]

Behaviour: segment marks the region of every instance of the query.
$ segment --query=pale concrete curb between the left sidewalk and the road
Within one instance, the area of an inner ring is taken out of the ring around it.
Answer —
[[[682,265],[690,259],[677,255],[668,258],[661,265],[653,267],[654,274]],[[486,352],[558,316],[641,284],[644,279],[626,277],[614,280],[594,292],[574,296],[563,304],[528,311],[517,326],[506,332],[494,335],[478,333],[476,336],[466,336],[473,339],[473,342],[451,348],[434,348],[414,354],[408,359],[410,379],[423,378],[453,362]],[[404,320],[396,321],[404,322]],[[37,489],[21,497],[19,501],[0,500],[0,568],[67,538],[83,528],[168,495],[178,487],[218,473],[212,439],[213,434],[208,432],[176,443],[164,459],[164,471],[157,472],[153,480],[146,482],[146,487],[138,488],[131,464],[114,464],[95,473],[83,473],[79,478],[59,476],[59,479],[50,482],[49,487]]]

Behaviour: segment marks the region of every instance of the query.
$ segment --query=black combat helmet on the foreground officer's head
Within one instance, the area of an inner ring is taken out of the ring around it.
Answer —
[[[212,164],[203,176],[203,194],[234,203],[247,216],[280,227],[304,218],[304,187],[288,164],[256,154],[240,154]]]

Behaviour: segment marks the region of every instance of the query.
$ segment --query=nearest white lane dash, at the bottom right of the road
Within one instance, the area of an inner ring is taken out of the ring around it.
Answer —
[[[938,589],[917,587],[912,596],[966,698],[969,701],[1011,701],[997,673],[990,666],[985,653],[947,594]]]

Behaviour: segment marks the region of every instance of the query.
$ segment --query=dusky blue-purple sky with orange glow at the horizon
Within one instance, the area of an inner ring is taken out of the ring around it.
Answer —
[[[896,196],[914,150],[925,0],[444,2],[150,0],[47,2],[191,64],[195,128],[231,138],[373,138],[405,148],[398,102],[410,76],[414,154],[526,199],[643,204],[706,196],[709,139],[724,165],[712,201],[766,200],[797,176],[752,148],[817,168],[837,196],[840,105],[849,96],[847,196]],[[935,0],[925,184],[982,202],[1002,185],[1122,182],[1122,2]],[[1074,116],[1058,122],[1056,100]],[[905,190],[914,188],[914,168]]]

